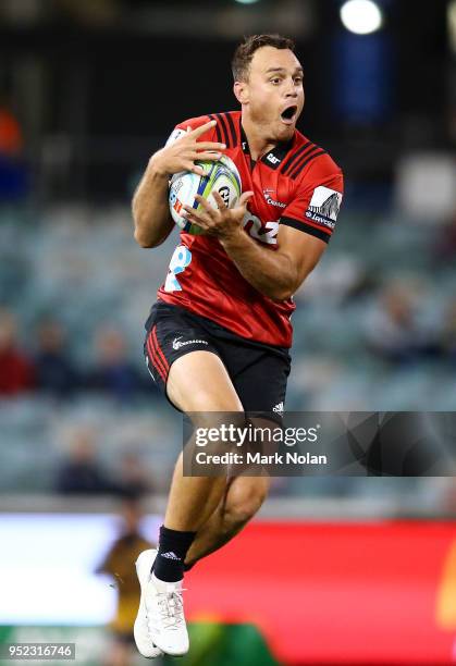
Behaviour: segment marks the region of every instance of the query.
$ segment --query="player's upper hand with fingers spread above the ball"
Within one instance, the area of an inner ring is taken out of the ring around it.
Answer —
[[[195,164],[195,160],[220,160],[221,150],[226,148],[225,144],[198,141],[199,137],[214,125],[217,121],[205,123],[196,130],[187,127],[185,135],[152,155],[150,166],[158,173],[168,176],[181,171],[193,171],[198,175],[205,175],[201,166]]]

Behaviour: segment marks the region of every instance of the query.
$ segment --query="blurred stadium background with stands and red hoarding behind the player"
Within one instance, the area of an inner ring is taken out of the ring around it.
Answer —
[[[2,643],[144,662],[112,629],[180,448],[141,355],[177,235],[139,249],[130,200],[175,123],[235,108],[231,53],[259,32],[296,39],[299,127],[346,177],[287,408],[454,410],[456,0],[0,0]],[[188,576],[181,663],[455,663],[455,515],[452,478],[275,479]]]

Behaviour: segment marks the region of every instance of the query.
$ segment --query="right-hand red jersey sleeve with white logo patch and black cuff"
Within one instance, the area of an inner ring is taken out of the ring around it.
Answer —
[[[300,178],[295,197],[283,211],[280,223],[329,243],[343,194],[341,169],[328,155],[322,156]]]

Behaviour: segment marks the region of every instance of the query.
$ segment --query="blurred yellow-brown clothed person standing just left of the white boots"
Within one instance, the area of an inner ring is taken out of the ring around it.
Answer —
[[[122,505],[123,525],[120,534],[109,548],[97,574],[111,576],[116,583],[118,603],[115,615],[110,622],[113,643],[107,655],[107,666],[128,666],[134,662],[133,625],[139,604],[139,583],[135,562],[141,551],[155,547],[139,531],[143,517],[137,499],[124,501]]]

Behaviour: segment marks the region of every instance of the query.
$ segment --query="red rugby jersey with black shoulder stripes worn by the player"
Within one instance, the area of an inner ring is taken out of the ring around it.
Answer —
[[[279,224],[329,242],[343,194],[342,171],[319,146],[295,131],[255,162],[241,124],[241,112],[214,113],[177,125],[169,141],[217,120],[200,140],[226,144],[224,151],[236,164],[243,192],[255,195],[248,202],[244,230],[256,242],[278,249]],[[239,273],[217,238],[181,232],[171,258],[160,300],[207,317],[251,341],[292,346],[289,321],[293,299],[275,303],[251,286]]]

